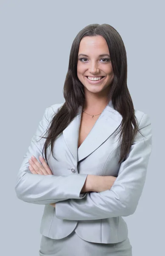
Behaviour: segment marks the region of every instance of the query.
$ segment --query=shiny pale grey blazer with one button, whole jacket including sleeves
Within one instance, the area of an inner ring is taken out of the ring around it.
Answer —
[[[45,204],[40,233],[52,239],[62,239],[74,229],[82,239],[96,243],[117,243],[128,236],[127,224],[122,216],[134,213],[142,194],[152,148],[150,117],[135,110],[140,131],[131,145],[126,160],[118,164],[119,134],[114,133],[122,121],[110,101],[92,130],[78,148],[78,134],[82,107],[73,121],[57,138],[48,159],[53,175],[32,174],[28,159],[34,155],[39,160],[44,135],[53,114],[62,106],[51,105],[45,109],[42,120],[32,137],[17,175],[17,197],[33,204]],[[45,135],[46,136],[46,135]],[[50,147],[48,148],[48,156]],[[88,174],[117,177],[112,188],[103,192],[80,193]],[[50,205],[56,203],[56,208]]]

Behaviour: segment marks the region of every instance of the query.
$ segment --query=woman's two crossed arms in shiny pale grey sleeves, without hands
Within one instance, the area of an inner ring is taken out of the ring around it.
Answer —
[[[41,135],[48,127],[48,111],[49,108],[46,108],[36,134]],[[87,174],[58,177],[32,174],[28,159],[32,155],[39,159],[43,147],[41,142],[35,143],[32,139],[17,175],[17,197],[34,204],[56,203],[56,217],[61,219],[91,220],[133,214],[145,183],[152,147],[148,115],[143,115],[139,126],[145,139],[140,133],[137,134],[127,159],[120,165],[115,183],[103,192],[81,193]]]

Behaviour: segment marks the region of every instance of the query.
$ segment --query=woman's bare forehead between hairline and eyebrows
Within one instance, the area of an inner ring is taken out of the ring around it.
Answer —
[[[79,45],[79,53],[90,53],[94,51],[104,51],[109,53],[108,45],[106,40],[101,35],[86,36],[81,39]]]

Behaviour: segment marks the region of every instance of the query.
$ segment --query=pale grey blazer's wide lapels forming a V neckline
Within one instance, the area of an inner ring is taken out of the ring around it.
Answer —
[[[122,121],[122,116],[114,109],[112,101],[110,101],[96,120],[92,130],[78,148],[81,114],[82,106],[79,106],[77,115],[63,131],[65,143],[76,161],[81,161],[95,151],[112,135]]]

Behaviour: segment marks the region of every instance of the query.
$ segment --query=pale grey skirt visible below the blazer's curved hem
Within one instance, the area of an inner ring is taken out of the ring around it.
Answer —
[[[73,230],[62,239],[42,235],[39,256],[132,256],[129,238],[115,244],[100,244],[81,239]]]

